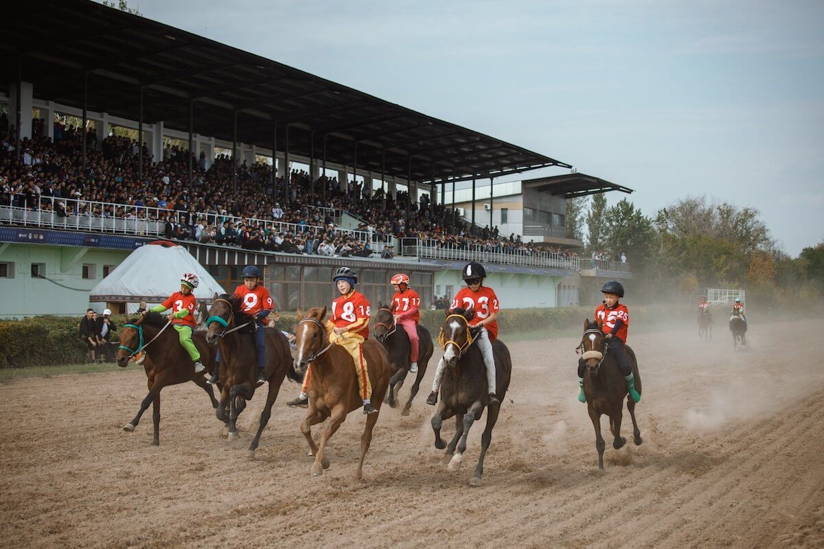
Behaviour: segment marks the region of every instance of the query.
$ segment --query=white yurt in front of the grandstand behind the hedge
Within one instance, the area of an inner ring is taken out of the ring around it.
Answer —
[[[215,292],[225,293],[212,275],[183,246],[157,240],[144,244],[125,258],[89,292],[89,306],[98,312],[132,314],[141,301],[157,305],[180,290],[180,277],[194,272],[200,279],[194,289],[198,303],[212,302]]]

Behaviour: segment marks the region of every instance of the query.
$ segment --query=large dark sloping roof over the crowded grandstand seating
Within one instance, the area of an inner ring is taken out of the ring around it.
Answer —
[[[36,97],[194,133],[271,148],[419,182],[571,167],[483,133],[420,114],[259,55],[89,0],[32,0],[4,7],[0,86],[34,85]],[[282,22],[282,21],[281,21]],[[273,25],[277,21],[273,21]],[[19,67],[16,59],[20,59]],[[312,139],[312,135],[314,135]]]

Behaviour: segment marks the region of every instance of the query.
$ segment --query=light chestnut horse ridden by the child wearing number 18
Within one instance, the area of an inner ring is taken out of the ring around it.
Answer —
[[[297,309],[297,328],[295,335],[297,352],[294,367],[298,375],[305,375],[311,362],[311,379],[309,379],[309,407],[307,415],[301,422],[301,432],[309,443],[311,454],[315,456],[311,474],[321,475],[329,468],[329,458],[325,456],[326,443],[335,434],[346,415],[363,405],[358,394],[358,379],[352,356],[339,345],[330,342],[331,323],[324,323],[326,308],[309,309],[303,314]],[[391,367],[382,345],[372,339],[363,342],[363,357],[367,361],[369,380],[372,382],[372,405],[377,413],[366,416],[366,427],[361,436],[361,455],[355,477],[363,476],[363,458],[372,442],[372,429],[381,413],[381,403],[389,385]],[[330,417],[329,423],[321,432],[320,444],[312,440],[311,426]]]

